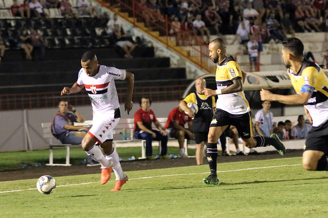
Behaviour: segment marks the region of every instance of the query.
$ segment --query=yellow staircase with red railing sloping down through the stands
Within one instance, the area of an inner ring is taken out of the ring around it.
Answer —
[[[167,15],[159,15],[135,0],[95,0],[102,7],[106,7],[127,20],[134,27],[144,31],[167,48],[174,50],[181,56],[188,58],[199,68],[214,73],[216,66],[209,58],[208,46],[198,36],[190,35],[188,31],[172,25]],[[119,7],[111,7],[119,6]],[[155,17],[156,20],[152,18]],[[182,25],[182,24],[181,24]],[[181,34],[170,34],[171,27],[179,29]],[[177,45],[178,42],[178,45]],[[182,46],[183,45],[183,46]]]

